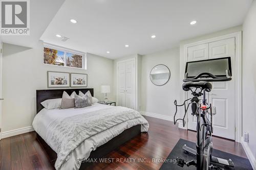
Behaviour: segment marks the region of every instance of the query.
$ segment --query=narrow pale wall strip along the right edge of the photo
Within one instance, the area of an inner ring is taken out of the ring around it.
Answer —
[[[243,131],[249,133],[248,147],[256,165],[256,2],[243,24]],[[255,167],[256,168],[256,167]]]

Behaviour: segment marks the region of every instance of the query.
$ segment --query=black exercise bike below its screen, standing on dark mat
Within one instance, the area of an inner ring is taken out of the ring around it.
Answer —
[[[203,72],[197,75],[194,78],[188,78],[187,72],[183,80],[182,89],[184,91],[191,91],[193,98],[187,99],[182,105],[178,105],[175,100],[174,104],[176,106],[176,112],[174,115],[174,124],[178,120],[182,120],[183,127],[185,127],[185,116],[188,111],[188,107],[191,105],[192,115],[197,117],[197,142],[196,150],[183,145],[182,149],[187,153],[193,154],[196,156],[196,160],[185,161],[184,159],[177,158],[176,162],[179,166],[183,167],[184,165],[196,166],[197,170],[208,170],[208,169],[223,169],[219,165],[213,165],[211,163],[222,164],[224,166],[233,167],[234,164],[231,159],[226,160],[222,158],[217,158],[211,155],[212,153],[212,106],[207,103],[206,92],[210,92],[212,85],[209,82],[222,82],[230,81],[230,71],[226,70],[225,77],[216,77],[209,72]],[[200,98],[201,97],[201,98]],[[186,105],[186,103],[188,104]],[[176,119],[177,107],[184,106],[185,114],[183,118]],[[209,119],[210,117],[210,119]]]

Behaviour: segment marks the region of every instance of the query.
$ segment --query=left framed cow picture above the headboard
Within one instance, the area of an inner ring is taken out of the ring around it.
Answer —
[[[69,72],[47,71],[47,85],[48,87],[69,87]]]

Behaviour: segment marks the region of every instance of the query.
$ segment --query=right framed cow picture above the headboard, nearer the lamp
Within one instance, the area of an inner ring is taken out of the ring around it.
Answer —
[[[87,87],[87,74],[70,74],[71,87]]]

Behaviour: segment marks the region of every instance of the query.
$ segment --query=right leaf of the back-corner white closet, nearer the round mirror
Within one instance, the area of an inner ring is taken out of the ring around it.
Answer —
[[[126,79],[126,107],[135,108],[135,63],[134,61],[128,61],[125,63],[125,79]]]

